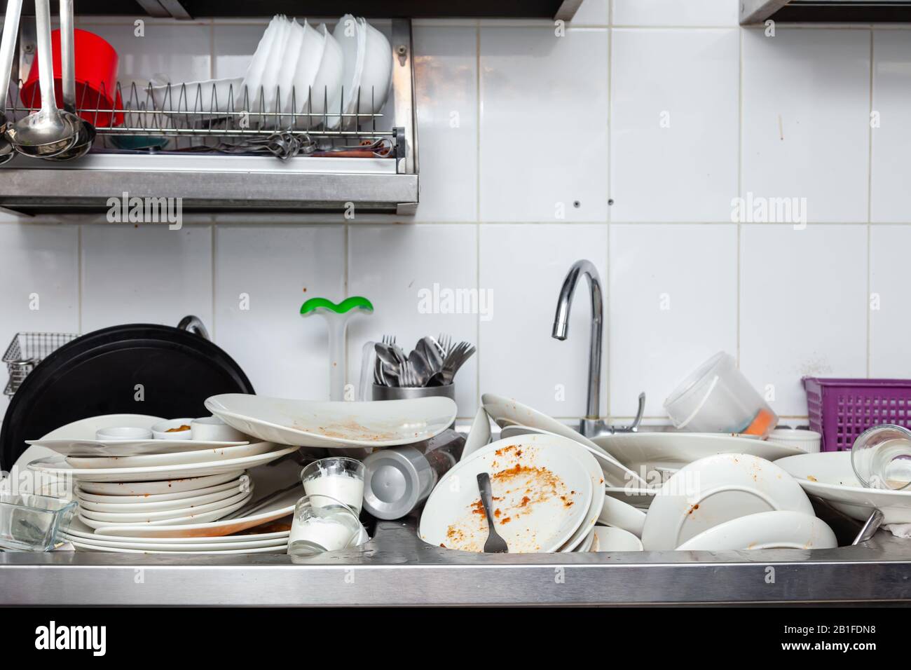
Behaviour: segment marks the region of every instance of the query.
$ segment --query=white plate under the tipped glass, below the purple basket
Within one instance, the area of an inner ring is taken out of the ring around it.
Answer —
[[[824,451],[779,460],[807,493],[822,498],[858,521],[873,508],[882,510],[884,523],[911,523],[911,490],[866,489],[851,467],[850,451]]]

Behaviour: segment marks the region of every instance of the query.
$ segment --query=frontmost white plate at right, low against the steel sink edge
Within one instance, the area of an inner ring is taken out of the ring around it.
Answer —
[[[835,533],[821,519],[799,511],[763,511],[720,523],[677,547],[680,551],[834,549]]]

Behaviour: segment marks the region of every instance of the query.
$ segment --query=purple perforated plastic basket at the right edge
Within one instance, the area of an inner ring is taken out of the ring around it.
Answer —
[[[884,423],[911,428],[911,379],[804,377],[810,428],[823,451],[848,451],[867,428]]]

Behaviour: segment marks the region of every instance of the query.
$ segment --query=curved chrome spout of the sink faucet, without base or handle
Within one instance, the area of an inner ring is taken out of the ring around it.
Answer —
[[[589,281],[591,298],[591,340],[589,349],[589,397],[586,406],[589,419],[597,419],[601,386],[601,337],[604,330],[604,299],[601,294],[601,280],[598,268],[591,261],[581,260],[569,268],[557,300],[557,314],[554,315],[553,337],[565,340],[569,334],[569,308],[576,291],[578,277],[584,274]]]

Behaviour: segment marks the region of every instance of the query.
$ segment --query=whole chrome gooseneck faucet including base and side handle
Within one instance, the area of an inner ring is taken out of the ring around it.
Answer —
[[[577,261],[569,268],[560,295],[557,300],[557,314],[554,315],[554,330],[551,335],[558,340],[565,340],[569,335],[569,307],[576,291],[578,277],[584,274],[589,281],[591,296],[591,338],[589,341],[589,395],[586,403],[586,416],[579,422],[579,432],[587,438],[618,432],[631,433],[639,429],[642,415],[645,412],[645,394],[640,393],[639,410],[630,426],[608,426],[599,417],[601,392],[601,339],[604,335],[604,297],[601,293],[601,280],[598,268],[591,261]]]

